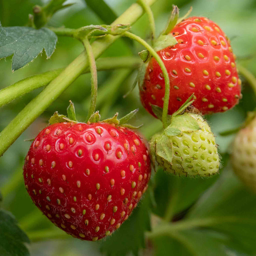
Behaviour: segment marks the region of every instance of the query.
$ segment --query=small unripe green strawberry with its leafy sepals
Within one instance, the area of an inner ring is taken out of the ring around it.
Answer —
[[[201,115],[184,113],[150,142],[153,161],[179,176],[211,176],[218,173],[219,155],[214,134]]]

